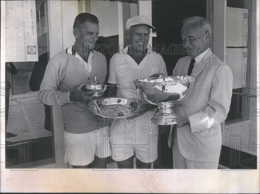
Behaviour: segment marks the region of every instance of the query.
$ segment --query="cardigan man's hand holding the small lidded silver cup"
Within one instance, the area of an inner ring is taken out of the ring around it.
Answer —
[[[90,101],[94,98],[94,96],[90,96],[90,95],[95,93],[95,91],[83,92],[81,90],[81,88],[84,84],[85,84],[84,82],[79,84],[73,92],[70,92],[70,94],[69,94],[70,101],[72,101],[72,102],[75,102],[75,101],[88,102],[88,101]]]

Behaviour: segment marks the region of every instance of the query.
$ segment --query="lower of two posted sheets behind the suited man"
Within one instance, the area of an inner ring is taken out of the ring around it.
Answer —
[[[233,73],[233,89],[245,85],[247,48],[226,48],[226,64]]]

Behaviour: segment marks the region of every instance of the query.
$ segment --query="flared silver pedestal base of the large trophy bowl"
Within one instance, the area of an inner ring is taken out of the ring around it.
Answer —
[[[177,122],[175,121],[175,118],[177,114],[172,110],[172,106],[174,103],[158,102],[157,104],[158,104],[159,111],[155,113],[151,121],[158,125],[176,124]]]

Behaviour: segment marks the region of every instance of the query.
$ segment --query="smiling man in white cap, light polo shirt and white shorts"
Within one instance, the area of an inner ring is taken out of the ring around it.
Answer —
[[[152,74],[167,75],[162,57],[147,47],[150,28],[154,27],[144,16],[134,16],[126,22],[126,36],[130,41],[110,60],[108,83],[119,85],[117,95],[120,98],[139,98],[133,80],[147,78]],[[157,124],[151,122],[156,107],[145,104],[142,113],[127,118],[115,119],[110,127],[112,158],[119,168],[151,168],[158,157]]]

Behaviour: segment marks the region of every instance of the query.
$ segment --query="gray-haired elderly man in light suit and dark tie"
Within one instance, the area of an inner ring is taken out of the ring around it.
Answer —
[[[181,38],[188,55],[180,58],[173,76],[195,77],[190,95],[174,107],[177,124],[170,132],[174,169],[217,169],[221,125],[229,112],[232,72],[209,48],[211,27],[199,16],[184,20]],[[194,61],[195,59],[195,61]]]

